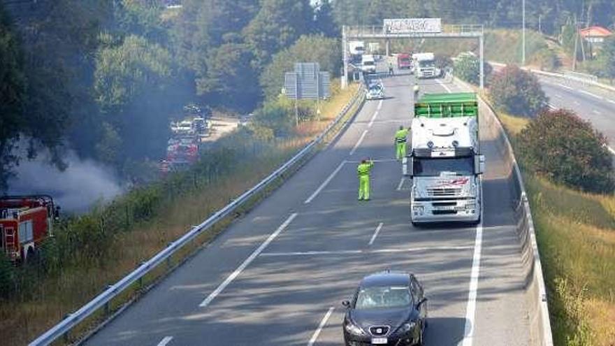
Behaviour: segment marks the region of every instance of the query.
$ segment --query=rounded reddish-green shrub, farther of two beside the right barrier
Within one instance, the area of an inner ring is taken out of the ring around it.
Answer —
[[[496,108],[525,117],[535,117],[548,102],[537,78],[511,65],[493,75],[489,96]]]

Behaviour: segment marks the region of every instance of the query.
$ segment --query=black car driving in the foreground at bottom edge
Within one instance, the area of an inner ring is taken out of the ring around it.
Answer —
[[[409,273],[376,273],[361,280],[342,329],[347,346],[423,345],[427,320],[423,287]]]

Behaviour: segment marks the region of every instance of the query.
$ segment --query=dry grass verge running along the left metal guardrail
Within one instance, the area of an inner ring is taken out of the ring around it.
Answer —
[[[274,152],[263,155],[258,165],[252,163],[240,165],[235,173],[217,180],[214,185],[203,186],[198,192],[178,198],[172,206],[164,210],[164,215],[154,217],[150,222],[136,224],[131,231],[117,235],[115,238],[117,245],[113,247],[119,250],[117,256],[107,261],[104,266],[64,269],[60,275],[46,277],[38,286],[40,288],[35,292],[35,298],[22,302],[3,302],[0,305],[2,345],[27,344],[67,313],[87,303],[108,284],[117,282],[142,261],[151,258],[168,243],[182,236],[192,225],[202,222],[212,212],[222,208],[249,187],[256,185],[256,182],[280,166],[299,147],[308,143],[315,134],[324,129],[354,92],[356,85],[343,92],[335,92],[331,100],[322,104],[321,121],[301,124],[298,129],[298,133],[301,134],[299,138],[281,144]],[[214,229],[205,232],[192,245],[173,257],[171,263],[178,264],[202,244],[215,238],[230,222],[232,219],[227,219]],[[166,266],[157,268],[152,275],[145,277],[143,287],[158,280],[167,270]],[[112,303],[111,310],[119,308],[143,287],[135,285],[132,291],[126,292]],[[76,334],[87,331],[101,318],[103,318],[102,312],[76,331]]]

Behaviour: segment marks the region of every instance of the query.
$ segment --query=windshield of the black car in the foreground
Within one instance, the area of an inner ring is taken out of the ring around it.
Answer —
[[[412,296],[408,287],[365,287],[356,296],[354,308],[357,310],[402,308],[411,304]]]

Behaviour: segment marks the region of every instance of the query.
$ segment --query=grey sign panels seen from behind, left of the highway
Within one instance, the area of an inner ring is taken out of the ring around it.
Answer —
[[[289,99],[326,99],[331,96],[331,78],[317,62],[298,62],[294,72],[284,73],[284,94]]]

